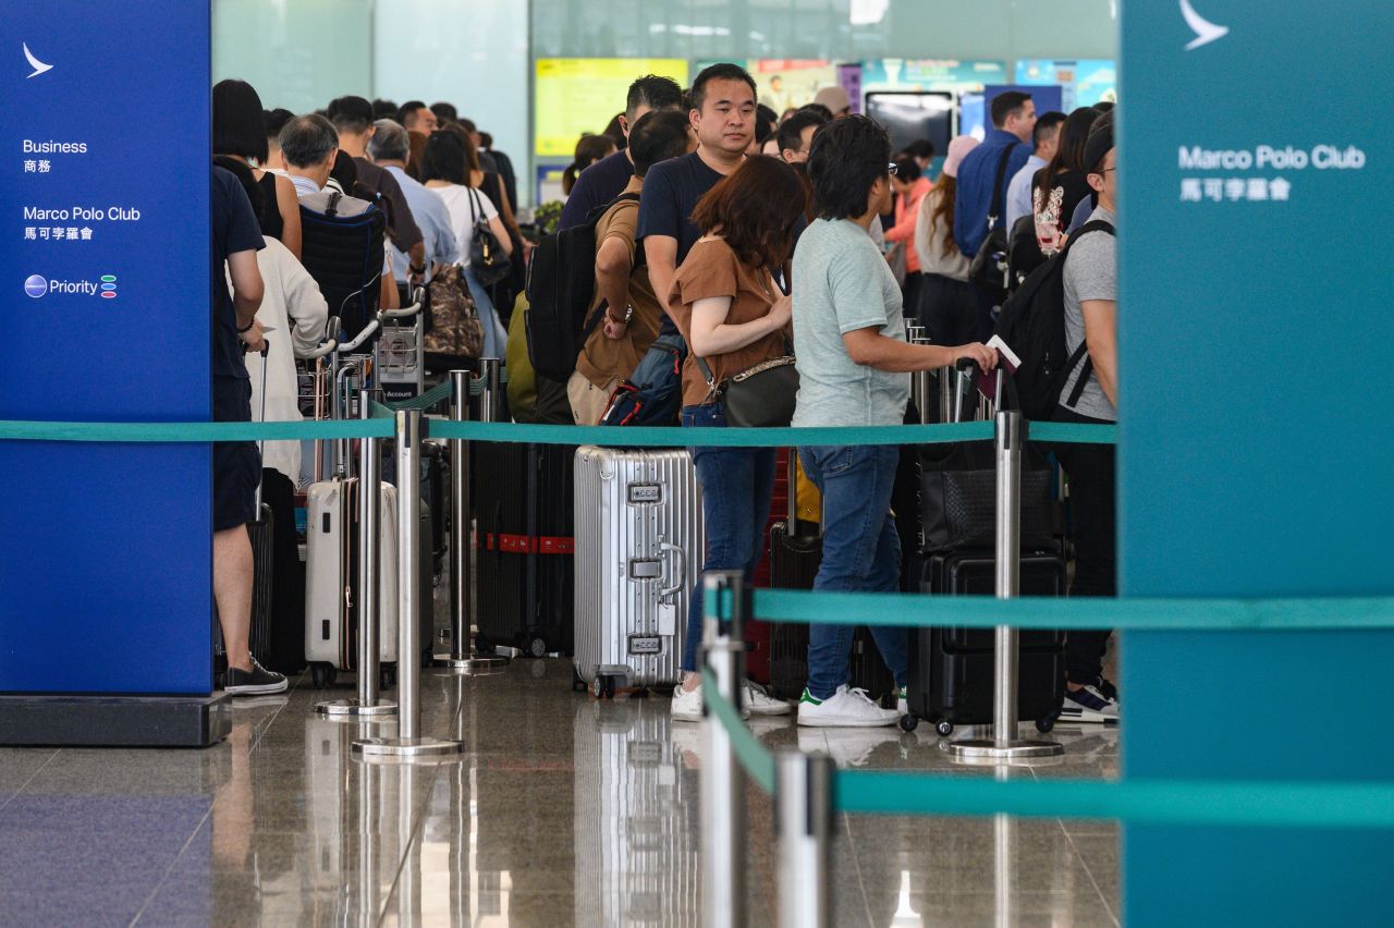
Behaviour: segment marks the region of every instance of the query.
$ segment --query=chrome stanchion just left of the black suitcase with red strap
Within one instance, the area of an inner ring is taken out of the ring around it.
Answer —
[[[488,385],[488,382],[485,382]],[[470,419],[470,372],[450,372],[450,421]],[[489,399],[492,403],[492,397]],[[450,649],[435,655],[436,666],[459,673],[498,670],[506,658],[474,649],[470,581],[474,574],[470,531],[470,444],[450,439]],[[445,514],[442,513],[442,517]]]

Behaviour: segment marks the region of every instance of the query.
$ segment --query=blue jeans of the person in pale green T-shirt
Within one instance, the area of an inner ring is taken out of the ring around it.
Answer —
[[[822,564],[814,589],[895,592],[901,588],[901,536],[891,516],[895,444],[799,449],[809,478],[822,490]],[[852,626],[809,628],[809,693],[827,699],[848,683]],[[871,627],[895,686],[905,686],[905,628]]]

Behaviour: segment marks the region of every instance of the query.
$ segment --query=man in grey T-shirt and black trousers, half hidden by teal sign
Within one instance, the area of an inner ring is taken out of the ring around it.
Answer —
[[[1118,150],[1112,113],[1098,117],[1085,145],[1089,185],[1098,206],[1075,233],[1065,255],[1065,350],[1075,359],[1059,393],[1054,418],[1061,422],[1118,421]],[[1114,446],[1061,444],[1055,456],[1069,475],[1075,513],[1075,582],[1072,596],[1115,596],[1117,555]],[[1103,676],[1108,630],[1071,631],[1066,641],[1069,681],[1062,719],[1115,722],[1118,691]]]

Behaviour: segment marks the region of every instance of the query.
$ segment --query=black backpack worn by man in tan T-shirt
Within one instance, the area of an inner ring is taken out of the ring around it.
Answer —
[[[615,203],[638,202],[638,194],[620,194],[597,206],[580,226],[544,235],[533,249],[527,269],[527,354],[544,378],[565,382],[576,369],[585,344],[585,311],[595,298],[595,226]]]

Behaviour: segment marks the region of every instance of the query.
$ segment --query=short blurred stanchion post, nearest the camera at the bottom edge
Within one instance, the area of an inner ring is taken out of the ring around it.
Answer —
[[[831,928],[832,758],[786,751],[775,775],[779,928]]]

